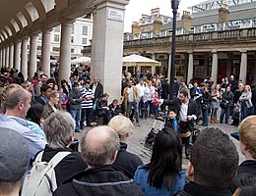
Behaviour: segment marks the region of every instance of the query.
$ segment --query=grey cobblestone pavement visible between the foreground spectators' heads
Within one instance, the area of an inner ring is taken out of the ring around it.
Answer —
[[[152,150],[149,147],[146,147],[144,145],[144,140],[154,124],[154,119],[148,118],[147,120],[141,120],[140,124],[141,124],[140,126],[134,125],[134,132],[127,140],[128,151],[138,155],[143,160],[143,162],[146,164],[146,163],[150,162]],[[227,124],[227,123],[211,124],[210,123],[210,126],[219,127],[228,135],[229,135],[229,133],[237,130],[237,126],[230,125],[230,123],[229,124]],[[203,126],[200,126],[200,125],[197,125],[197,127],[200,129],[203,128]],[[86,126],[84,131],[87,131],[90,128],[91,127]],[[80,138],[81,133],[76,133],[75,137]],[[239,153],[239,162],[244,161],[244,157],[241,154],[241,151],[239,148],[239,142],[237,140],[235,140],[234,138],[232,138],[231,136],[230,136],[230,138],[232,139],[235,146],[237,147],[237,151]],[[183,156],[182,157],[183,157],[182,168],[186,169],[187,165],[188,165],[188,160],[185,159],[184,147],[183,147]]]

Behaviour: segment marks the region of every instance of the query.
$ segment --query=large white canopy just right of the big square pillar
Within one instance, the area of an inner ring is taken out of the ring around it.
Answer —
[[[160,66],[160,62],[142,57],[140,55],[130,55],[123,57],[123,66],[136,67],[136,66]]]

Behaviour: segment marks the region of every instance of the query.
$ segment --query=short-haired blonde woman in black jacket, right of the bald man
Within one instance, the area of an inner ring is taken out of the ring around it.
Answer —
[[[133,178],[137,168],[143,165],[142,160],[137,155],[126,151],[127,144],[125,141],[133,132],[133,123],[129,118],[117,115],[110,120],[108,125],[115,130],[120,141],[119,151],[113,168],[123,172],[129,178]]]

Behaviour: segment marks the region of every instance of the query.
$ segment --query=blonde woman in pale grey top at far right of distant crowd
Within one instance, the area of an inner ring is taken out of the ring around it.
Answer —
[[[250,115],[250,109],[253,107],[251,97],[251,87],[249,85],[244,86],[243,92],[239,97],[239,102],[241,105],[241,121]]]

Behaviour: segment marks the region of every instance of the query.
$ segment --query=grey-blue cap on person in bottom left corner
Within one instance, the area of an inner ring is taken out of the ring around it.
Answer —
[[[0,181],[16,182],[27,171],[29,147],[17,131],[0,127]]]

